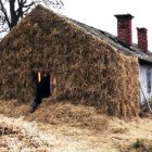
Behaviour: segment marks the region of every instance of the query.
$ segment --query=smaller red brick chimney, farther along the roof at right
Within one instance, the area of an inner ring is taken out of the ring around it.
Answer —
[[[145,53],[148,52],[147,30],[148,30],[147,28],[137,27],[138,47]]]

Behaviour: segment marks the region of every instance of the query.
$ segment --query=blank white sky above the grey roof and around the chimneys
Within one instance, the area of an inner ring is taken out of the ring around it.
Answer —
[[[132,41],[137,43],[136,27],[148,29],[148,46],[152,51],[151,0],[63,0],[64,15],[101,30],[117,35],[115,14],[132,16]]]

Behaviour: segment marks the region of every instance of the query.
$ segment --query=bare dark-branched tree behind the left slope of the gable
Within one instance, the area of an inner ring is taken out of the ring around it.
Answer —
[[[36,4],[63,8],[62,0],[0,0],[0,34],[10,30]]]

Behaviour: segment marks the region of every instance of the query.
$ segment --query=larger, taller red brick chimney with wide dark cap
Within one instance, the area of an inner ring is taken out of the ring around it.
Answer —
[[[134,16],[122,14],[115,15],[115,17],[117,18],[117,38],[130,47],[132,45],[131,20]]]

